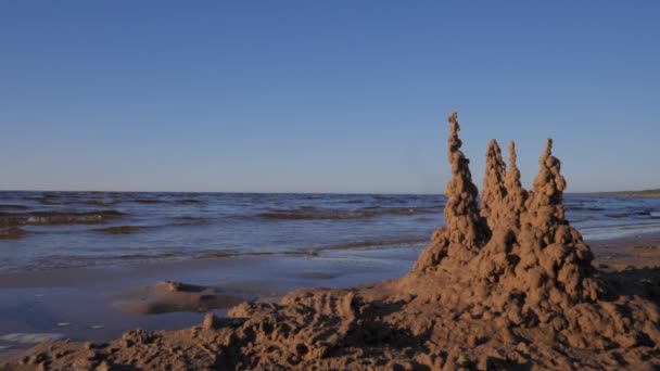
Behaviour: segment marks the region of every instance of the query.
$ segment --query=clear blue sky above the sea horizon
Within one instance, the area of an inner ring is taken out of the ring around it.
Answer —
[[[0,1],[0,189],[660,188],[658,1]]]

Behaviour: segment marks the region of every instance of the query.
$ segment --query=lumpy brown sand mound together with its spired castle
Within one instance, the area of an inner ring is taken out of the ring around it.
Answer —
[[[132,331],[110,345],[55,342],[22,364],[140,369],[653,369],[660,269],[600,273],[564,218],[548,140],[532,191],[488,144],[478,202],[449,116],[446,227],[399,280],[242,303],[200,328]],[[657,299],[657,297],[656,297]],[[12,367],[18,367],[13,364]]]

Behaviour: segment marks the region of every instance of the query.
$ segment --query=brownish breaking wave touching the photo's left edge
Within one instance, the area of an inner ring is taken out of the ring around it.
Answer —
[[[0,213],[0,226],[94,225],[123,216],[117,210]]]

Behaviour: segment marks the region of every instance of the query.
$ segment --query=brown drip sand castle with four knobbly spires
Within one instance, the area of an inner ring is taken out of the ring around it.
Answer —
[[[466,286],[481,293],[466,298],[466,305],[474,300],[495,312],[511,311],[518,323],[547,320],[548,314],[571,304],[597,299],[602,284],[593,277],[588,246],[566,220],[566,180],[559,159],[551,154],[551,140],[541,156],[533,192],[521,186],[513,142],[507,172],[499,146],[492,140],[478,205],[456,118],[455,113],[449,116],[447,225],[433,233],[432,245],[414,271],[434,271],[439,266],[445,271],[460,270]],[[467,269],[458,268],[464,265]]]

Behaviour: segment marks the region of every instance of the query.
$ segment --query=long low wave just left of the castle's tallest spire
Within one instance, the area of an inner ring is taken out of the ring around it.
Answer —
[[[343,219],[365,219],[382,215],[416,215],[427,213],[437,213],[440,207],[363,207],[356,210],[338,210],[330,208],[316,208],[303,206],[294,209],[271,209],[270,212],[257,214],[263,219],[280,220],[343,220]]]

